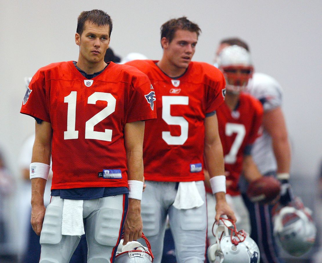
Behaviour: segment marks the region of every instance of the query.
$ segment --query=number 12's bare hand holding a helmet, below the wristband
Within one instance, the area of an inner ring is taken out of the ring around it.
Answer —
[[[142,218],[141,218],[141,201],[137,199],[128,199],[128,216],[126,217],[123,232],[123,246],[128,241],[137,240],[142,236]]]

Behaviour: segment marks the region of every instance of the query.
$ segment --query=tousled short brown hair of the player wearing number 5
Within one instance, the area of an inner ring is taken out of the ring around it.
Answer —
[[[169,40],[169,42],[172,41],[172,39],[175,36],[175,32],[178,29],[188,30],[190,32],[196,32],[197,37],[201,33],[201,29],[199,26],[190,20],[188,20],[185,16],[180,18],[173,18],[161,25],[161,39],[163,37],[166,37],[166,39]]]

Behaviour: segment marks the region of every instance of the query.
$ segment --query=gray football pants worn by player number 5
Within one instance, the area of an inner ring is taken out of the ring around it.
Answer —
[[[172,204],[177,193],[175,182],[146,181],[147,187],[141,201],[143,233],[151,244],[154,263],[162,258],[166,216],[175,242],[178,263],[203,263],[206,249],[207,209],[204,182],[196,186],[204,205],[192,209],[176,209]],[[139,240],[144,244],[143,240]]]

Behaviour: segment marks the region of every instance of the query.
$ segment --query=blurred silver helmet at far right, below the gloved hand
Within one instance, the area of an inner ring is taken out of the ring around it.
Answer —
[[[294,206],[282,207],[273,217],[274,236],[281,247],[292,256],[308,252],[316,237],[311,210],[296,197]]]

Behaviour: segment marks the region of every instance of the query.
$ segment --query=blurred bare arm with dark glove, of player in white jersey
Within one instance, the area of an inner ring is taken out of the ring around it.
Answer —
[[[293,198],[289,184],[289,169],[291,164],[291,149],[289,145],[286,123],[281,107],[264,113],[263,127],[272,138],[272,147],[277,163],[277,178],[281,181],[282,205],[287,205]]]

